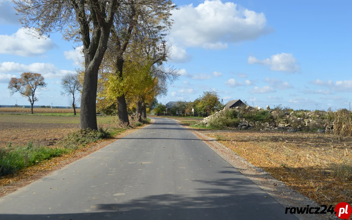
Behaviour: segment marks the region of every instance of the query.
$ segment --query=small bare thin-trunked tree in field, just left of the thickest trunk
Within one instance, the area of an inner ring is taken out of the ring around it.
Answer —
[[[78,79],[77,73],[67,73],[61,79],[61,95],[71,96],[72,95],[72,108],[74,115],[76,115],[76,105],[75,105],[75,94],[82,91],[82,85]]]

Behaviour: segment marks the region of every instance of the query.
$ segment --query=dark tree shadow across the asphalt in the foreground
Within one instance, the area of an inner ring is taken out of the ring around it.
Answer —
[[[92,210],[63,214],[0,214],[1,220],[34,219],[160,219],[160,220],[232,220],[232,219],[296,219],[284,214],[285,208],[268,194],[241,176],[233,167],[223,167],[226,177],[193,180],[199,185],[194,193],[159,194],[97,204]],[[18,207],[20,212],[20,207]]]

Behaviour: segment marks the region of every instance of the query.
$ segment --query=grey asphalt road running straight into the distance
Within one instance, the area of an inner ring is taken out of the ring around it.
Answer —
[[[177,122],[155,123],[0,198],[0,219],[296,219]]]

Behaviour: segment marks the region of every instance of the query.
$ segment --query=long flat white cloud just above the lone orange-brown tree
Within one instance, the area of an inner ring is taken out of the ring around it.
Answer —
[[[40,73],[44,78],[61,78],[67,73],[75,73],[74,71],[58,69],[52,63],[32,63],[30,65],[19,64],[15,62],[3,62],[0,63],[0,72],[3,73],[23,73],[33,72]]]

